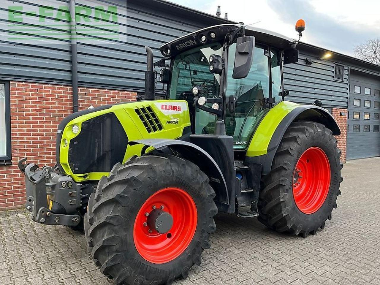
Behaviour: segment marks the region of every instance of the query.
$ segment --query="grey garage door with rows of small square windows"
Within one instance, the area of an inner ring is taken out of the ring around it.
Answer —
[[[380,77],[350,72],[347,159],[380,155]]]

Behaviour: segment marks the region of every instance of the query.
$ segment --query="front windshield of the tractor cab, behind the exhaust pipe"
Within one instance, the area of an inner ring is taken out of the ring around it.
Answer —
[[[202,91],[197,96],[217,98],[220,90],[220,75],[210,72],[209,57],[211,54],[222,56],[220,43],[212,43],[176,55],[173,60],[169,98],[186,100],[190,111],[192,131],[196,134],[214,133],[216,120],[214,114],[194,108],[194,86],[201,86]],[[209,103],[206,103],[208,106]],[[211,108],[211,106],[208,106]]]

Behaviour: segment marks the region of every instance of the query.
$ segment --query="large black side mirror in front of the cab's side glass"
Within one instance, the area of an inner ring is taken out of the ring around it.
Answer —
[[[241,79],[247,77],[251,70],[254,48],[254,36],[240,36],[236,39],[235,63],[232,78]]]

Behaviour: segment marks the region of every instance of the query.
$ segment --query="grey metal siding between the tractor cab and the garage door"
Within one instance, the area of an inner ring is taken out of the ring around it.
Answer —
[[[312,65],[306,65],[306,57],[313,61]],[[347,66],[344,67],[344,80],[334,80],[333,60],[320,60],[301,50],[298,63],[285,65],[283,76],[284,89],[289,90],[286,100],[301,104],[321,100],[324,107],[347,108]]]

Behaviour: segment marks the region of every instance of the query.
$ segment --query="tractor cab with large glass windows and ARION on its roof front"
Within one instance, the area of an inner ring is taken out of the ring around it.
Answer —
[[[214,134],[223,119],[234,149],[245,150],[258,122],[283,100],[283,56],[296,62],[294,48],[292,39],[259,28],[209,27],[160,47],[170,64],[159,62],[158,81],[168,99],[188,102],[194,134]]]

